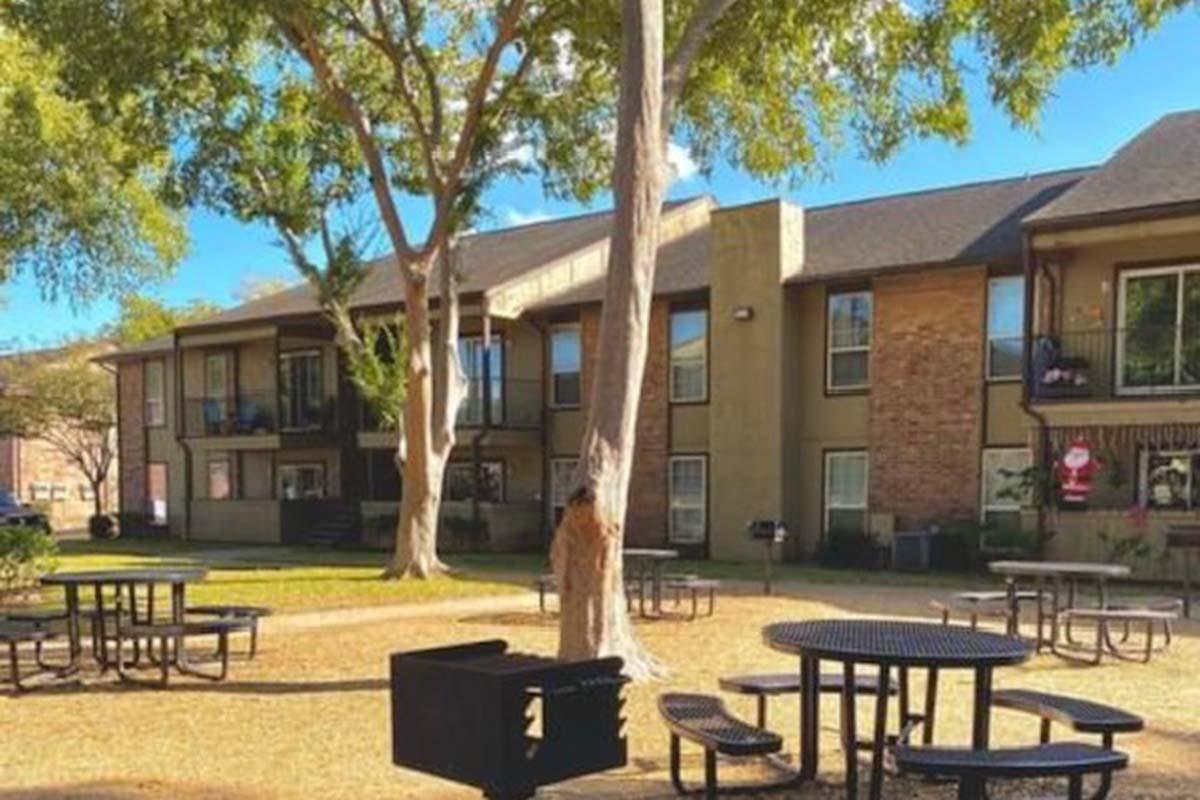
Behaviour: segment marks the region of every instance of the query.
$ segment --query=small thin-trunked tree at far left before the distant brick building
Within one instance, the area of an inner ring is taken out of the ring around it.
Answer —
[[[108,473],[116,458],[116,399],[112,375],[89,360],[97,345],[78,342],[0,365],[0,431],[41,439],[74,464],[104,513]]]

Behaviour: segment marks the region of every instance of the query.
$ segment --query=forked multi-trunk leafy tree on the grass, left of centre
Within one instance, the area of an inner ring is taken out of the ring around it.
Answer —
[[[368,188],[403,285],[407,335],[404,493],[389,576],[445,569],[440,491],[467,391],[456,234],[493,180],[527,168],[514,157],[526,146],[559,191],[582,197],[602,184],[611,145],[594,122],[611,72],[559,68],[569,6],[12,0],[0,10],[54,54],[64,84],[91,107],[128,109],[162,145],[187,143],[172,151],[184,201],[274,224],[352,348],[334,290],[344,284],[329,281],[354,273],[358,247],[329,212],[354,197],[355,181]],[[427,201],[424,236],[401,212],[402,196]],[[310,257],[314,239],[323,258]]]

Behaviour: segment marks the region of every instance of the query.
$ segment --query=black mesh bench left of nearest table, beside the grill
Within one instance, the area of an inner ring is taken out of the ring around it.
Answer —
[[[671,783],[679,794],[698,790],[684,784],[679,774],[679,740],[686,739],[704,748],[704,788],[707,799],[716,798],[716,756],[770,756],[784,746],[776,733],[743,722],[725,709],[719,697],[712,694],[668,693],[659,697],[659,714],[671,732]],[[720,789],[725,794],[764,792],[791,783],[743,783]]]

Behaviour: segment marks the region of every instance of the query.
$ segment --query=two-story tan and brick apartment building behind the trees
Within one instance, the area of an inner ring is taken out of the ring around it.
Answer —
[[[1045,525],[1006,487],[1081,438],[1102,477],[1058,515],[1052,552],[1196,518],[1198,151],[1200,114],[1178,114],[1093,168],[811,209],[671,204],[629,540],[743,558],[756,517],[785,519],[793,554],[845,530]],[[547,540],[587,414],[610,224],[466,240],[472,396],[448,531],[478,507],[493,546]],[[402,312],[386,260],[353,307]],[[307,288],[113,360],[127,513],[192,539],[390,536],[394,434],[361,414]]]

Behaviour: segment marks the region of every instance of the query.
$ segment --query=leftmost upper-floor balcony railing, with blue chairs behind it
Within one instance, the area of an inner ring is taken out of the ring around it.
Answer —
[[[317,433],[335,429],[336,422],[332,398],[280,403],[275,392],[250,392],[184,401],[184,433],[188,437]]]

